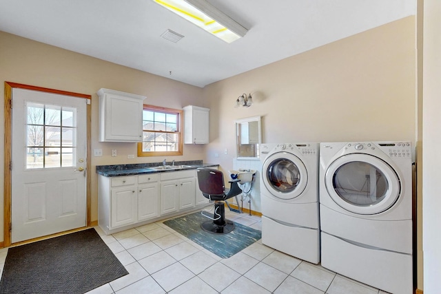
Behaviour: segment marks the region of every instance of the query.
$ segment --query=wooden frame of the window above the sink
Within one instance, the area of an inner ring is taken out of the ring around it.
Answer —
[[[153,131],[148,130],[145,131],[143,127],[143,133],[144,132],[155,132],[160,134],[178,134],[178,150],[177,151],[143,151],[143,143],[144,141],[138,143],[138,156],[144,157],[144,156],[176,156],[176,155],[183,155],[183,110],[182,109],[174,109],[174,108],[167,108],[167,107],[159,107],[154,105],[143,105],[143,112],[144,110],[149,110],[152,112],[161,112],[163,114],[177,114],[178,120],[176,123],[176,129],[177,132],[159,132],[159,131]],[[144,136],[143,136],[144,137]]]

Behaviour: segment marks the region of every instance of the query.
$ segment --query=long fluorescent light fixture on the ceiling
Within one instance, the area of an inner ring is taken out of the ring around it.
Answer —
[[[153,1],[227,43],[236,41],[248,32],[242,25],[236,23],[205,0]]]

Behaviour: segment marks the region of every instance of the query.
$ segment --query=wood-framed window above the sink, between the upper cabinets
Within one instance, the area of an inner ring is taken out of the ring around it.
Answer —
[[[144,105],[143,142],[138,143],[138,156],[183,154],[183,111]]]

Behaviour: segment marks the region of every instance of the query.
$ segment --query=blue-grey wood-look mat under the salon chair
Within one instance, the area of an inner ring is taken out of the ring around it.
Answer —
[[[207,220],[208,218],[202,216],[201,212],[196,212],[187,216],[166,220],[164,224],[218,255],[220,258],[230,258],[262,238],[260,231],[237,222],[234,222],[236,227],[231,233],[224,235],[208,233],[201,229],[201,223]]]

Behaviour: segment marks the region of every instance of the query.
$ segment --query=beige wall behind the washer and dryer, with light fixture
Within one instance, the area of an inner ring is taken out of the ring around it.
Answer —
[[[208,85],[207,160],[231,169],[234,120],[259,115],[264,143],[415,143],[415,44],[415,18],[407,17]],[[234,108],[244,92],[254,105]]]

